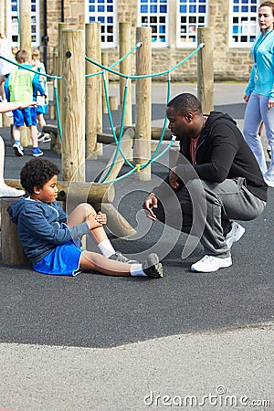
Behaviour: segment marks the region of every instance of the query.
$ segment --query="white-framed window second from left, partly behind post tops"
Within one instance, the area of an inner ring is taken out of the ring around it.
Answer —
[[[86,21],[100,22],[101,47],[117,46],[116,0],[86,0]]]

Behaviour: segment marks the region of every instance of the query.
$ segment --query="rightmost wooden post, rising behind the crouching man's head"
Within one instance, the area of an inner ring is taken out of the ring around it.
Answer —
[[[213,27],[198,27],[197,39],[198,44],[205,43],[205,47],[197,54],[198,99],[201,101],[203,112],[209,114],[214,108]]]

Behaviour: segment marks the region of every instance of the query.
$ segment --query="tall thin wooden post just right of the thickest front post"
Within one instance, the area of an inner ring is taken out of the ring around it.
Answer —
[[[86,56],[97,61],[97,47],[99,38],[97,37],[97,23],[86,24]],[[86,74],[97,73],[100,69],[95,64],[86,61]],[[94,103],[97,98],[98,77],[92,76],[86,78],[86,138],[87,138],[87,156],[94,154],[97,144],[97,104]],[[96,159],[96,156],[92,156]]]

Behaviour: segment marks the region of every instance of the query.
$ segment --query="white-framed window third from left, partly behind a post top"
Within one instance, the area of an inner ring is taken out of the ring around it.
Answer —
[[[167,47],[168,0],[140,0],[138,26],[152,27],[153,47]]]

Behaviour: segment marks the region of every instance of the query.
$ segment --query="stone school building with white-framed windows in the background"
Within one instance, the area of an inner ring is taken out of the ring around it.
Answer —
[[[24,1],[24,0],[21,0]],[[100,22],[101,47],[110,64],[119,58],[119,23],[130,22],[132,47],[136,27],[152,27],[153,72],[174,67],[197,47],[197,27],[214,32],[216,81],[248,81],[250,46],[258,34],[259,0],[27,0],[31,6],[32,46],[47,47],[47,68],[58,50],[58,23],[85,28]],[[14,46],[20,44],[19,1],[4,0],[5,33]],[[132,74],[135,60],[132,56]],[[172,73],[176,81],[196,80],[196,56]],[[51,73],[56,74],[56,73]],[[157,79],[157,78],[156,78]]]

